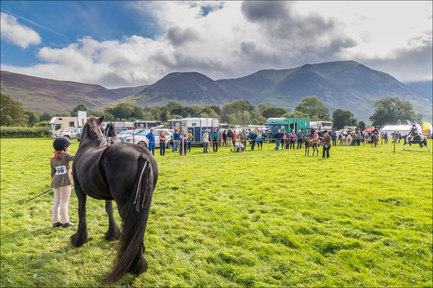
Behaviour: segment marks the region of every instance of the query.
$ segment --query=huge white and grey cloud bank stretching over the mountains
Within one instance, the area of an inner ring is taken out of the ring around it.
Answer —
[[[400,81],[432,79],[431,3],[279,2],[272,9],[265,9],[269,4],[242,9],[241,1],[129,5],[152,11],[165,33],[154,39],[85,37],[65,48],[41,48],[36,55],[42,62],[35,66],[1,69],[114,88],[152,84],[175,71],[221,79],[355,60]]]

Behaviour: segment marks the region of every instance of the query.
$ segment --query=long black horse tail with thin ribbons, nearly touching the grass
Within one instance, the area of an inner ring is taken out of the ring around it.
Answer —
[[[143,257],[145,251],[143,237],[149,218],[153,185],[154,174],[151,162],[146,155],[140,155],[134,188],[122,210],[119,211],[123,219],[120,248],[116,264],[107,278],[108,284],[116,282],[127,272],[138,275],[147,270],[147,261]]]

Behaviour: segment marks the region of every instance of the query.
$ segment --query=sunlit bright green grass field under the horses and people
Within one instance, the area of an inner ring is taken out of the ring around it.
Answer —
[[[23,204],[49,188],[52,139],[0,144],[1,287],[104,287],[116,255],[104,201],[88,198],[90,241],[72,247],[51,192]],[[155,151],[149,270],[114,287],[432,287],[432,152],[249,149]],[[72,193],[71,221],[77,207]]]

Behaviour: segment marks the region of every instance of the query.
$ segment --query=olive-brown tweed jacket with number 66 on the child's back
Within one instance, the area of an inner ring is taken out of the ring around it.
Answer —
[[[51,159],[50,162],[52,177],[50,188],[72,184],[71,161],[74,160],[74,155],[69,152],[62,152],[59,158]]]

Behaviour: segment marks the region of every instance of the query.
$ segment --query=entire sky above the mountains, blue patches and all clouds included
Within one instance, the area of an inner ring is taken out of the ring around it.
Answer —
[[[1,70],[107,88],[355,60],[433,78],[432,1],[1,1]]]

